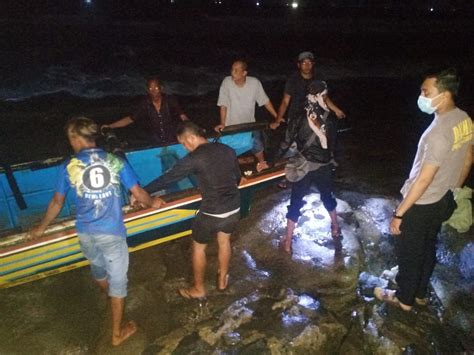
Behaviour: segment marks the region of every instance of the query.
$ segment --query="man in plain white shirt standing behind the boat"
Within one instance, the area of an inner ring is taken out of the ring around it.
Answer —
[[[220,107],[220,124],[215,127],[221,131],[227,126],[255,122],[255,104],[264,106],[274,119],[277,113],[273,108],[262,83],[257,78],[247,76],[247,63],[236,60],[232,63],[231,76],[227,76],[219,89],[217,106]],[[252,152],[258,160],[257,171],[268,168],[263,154],[260,131],[253,132]]]

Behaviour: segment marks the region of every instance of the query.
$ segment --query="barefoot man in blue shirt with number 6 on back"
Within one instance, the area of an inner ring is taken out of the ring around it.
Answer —
[[[69,189],[77,195],[76,230],[84,256],[90,261],[92,276],[110,296],[112,345],[120,345],[133,335],[137,326],[122,324],[127,295],[128,247],[123,223],[120,183],[135,199],[158,208],[163,202],[153,199],[139,185],[128,163],[96,147],[97,124],[85,117],[73,118],[66,134],[74,152],[59,169],[56,192],[41,223],[30,232],[31,238],[43,235],[46,227],[61,212]]]

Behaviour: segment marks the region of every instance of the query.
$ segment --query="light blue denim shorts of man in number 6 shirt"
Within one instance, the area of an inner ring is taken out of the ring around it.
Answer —
[[[107,280],[109,296],[127,296],[128,246],[124,237],[78,234],[84,256],[91,263],[92,277]]]

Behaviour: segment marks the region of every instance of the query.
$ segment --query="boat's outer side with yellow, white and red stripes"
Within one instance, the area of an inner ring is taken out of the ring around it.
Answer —
[[[241,215],[247,214],[255,190],[282,176],[284,171],[280,167],[257,174],[241,184]],[[186,196],[167,202],[158,210],[129,210],[125,213],[130,252],[191,235],[192,220],[201,195],[195,189],[180,194]],[[80,250],[73,220],[51,226],[45,237],[34,241],[28,241],[25,233],[13,234],[0,243],[0,288],[21,285],[88,264]]]

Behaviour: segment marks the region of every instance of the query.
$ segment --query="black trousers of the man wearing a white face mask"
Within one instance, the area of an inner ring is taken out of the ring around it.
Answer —
[[[455,209],[451,191],[441,200],[428,205],[413,205],[403,216],[401,234],[394,236],[398,259],[397,298],[413,305],[416,298],[425,298],[436,264],[436,241],[441,224]]]

